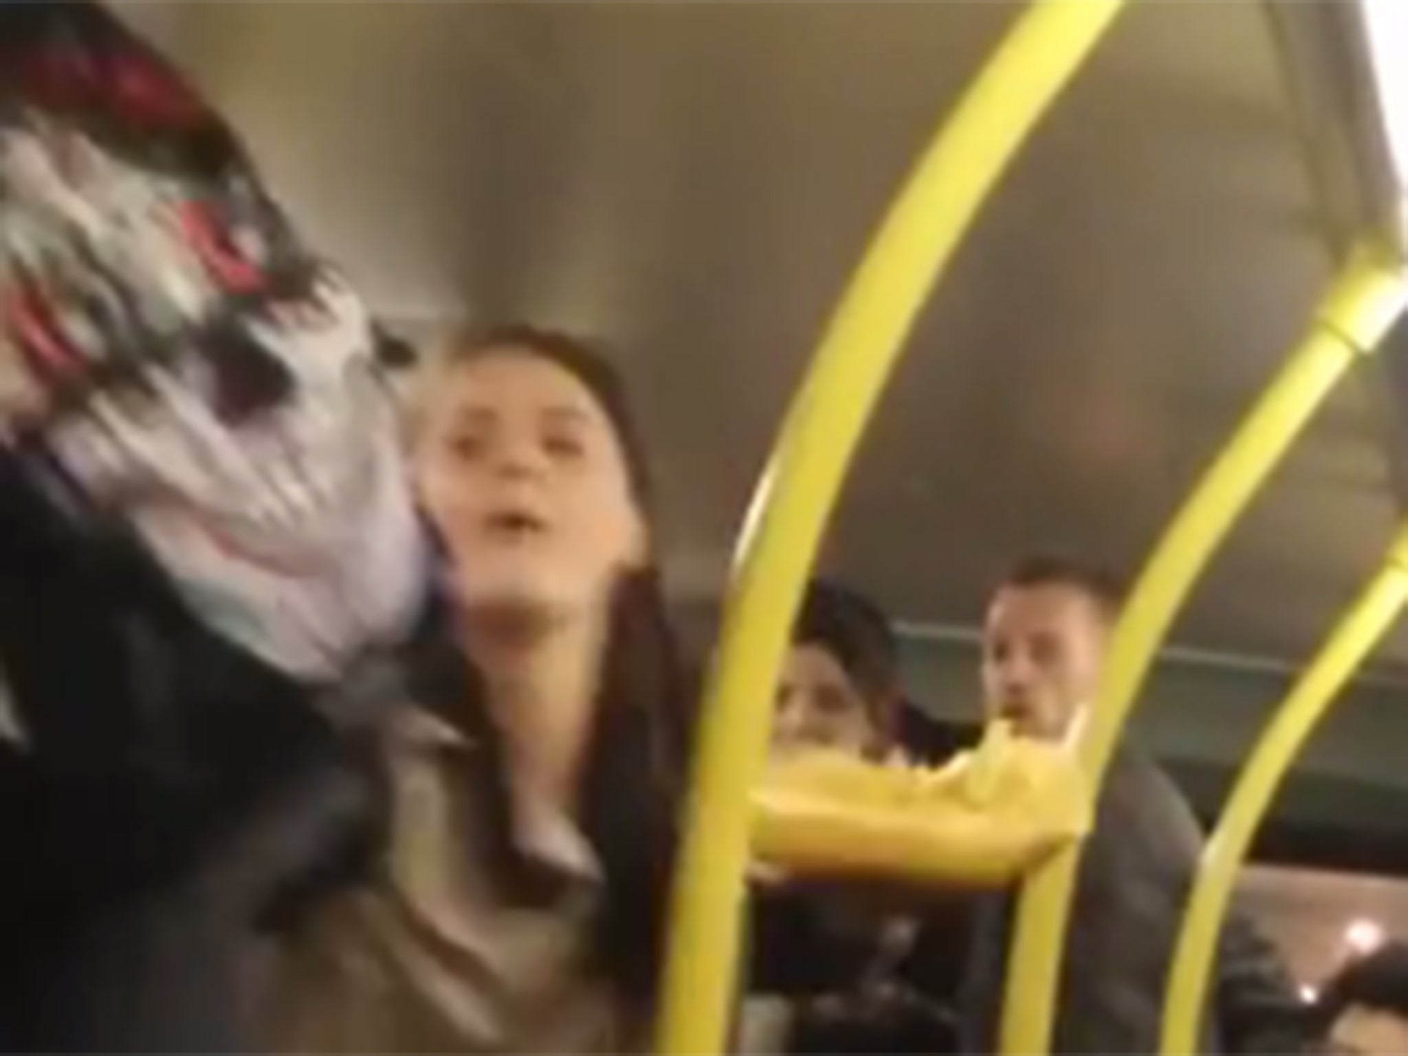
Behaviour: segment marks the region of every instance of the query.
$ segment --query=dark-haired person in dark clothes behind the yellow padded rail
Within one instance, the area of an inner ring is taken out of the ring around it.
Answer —
[[[884,617],[848,590],[814,583],[777,690],[774,750],[832,748],[880,758],[894,749],[900,700]],[[921,928],[859,893],[783,881],[759,884],[753,908],[752,991],[784,998],[786,1050],[953,1052],[938,995],[955,988],[953,950],[962,943],[938,917]],[[917,956],[921,948],[931,953]],[[759,1007],[745,1014],[745,1031]]]

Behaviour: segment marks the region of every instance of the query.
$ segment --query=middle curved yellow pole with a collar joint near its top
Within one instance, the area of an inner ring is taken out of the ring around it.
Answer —
[[[1404,306],[1402,276],[1363,249],[1321,303],[1315,325],[1262,394],[1164,531],[1111,642],[1110,663],[1080,750],[1098,790],[1119,731],[1183,600],[1217,545],[1311,414],[1370,352]],[[1080,848],[1063,852],[1022,891],[1007,972],[1001,1048],[1008,1056],[1050,1049],[1066,921]]]

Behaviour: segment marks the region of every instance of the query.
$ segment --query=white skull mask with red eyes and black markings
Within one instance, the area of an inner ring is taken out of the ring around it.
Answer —
[[[101,8],[0,4],[0,444],[193,614],[327,679],[418,603],[377,341],[238,139]]]

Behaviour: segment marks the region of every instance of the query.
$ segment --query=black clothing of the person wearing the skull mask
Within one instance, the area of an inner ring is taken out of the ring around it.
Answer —
[[[245,1049],[213,943],[366,838],[370,777],[313,687],[34,469],[0,459],[0,674],[28,738],[0,745],[0,1043]]]

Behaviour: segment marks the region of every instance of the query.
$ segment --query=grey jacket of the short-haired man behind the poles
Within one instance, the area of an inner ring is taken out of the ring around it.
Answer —
[[[1169,777],[1115,756],[1081,860],[1057,994],[1053,1053],[1159,1050],[1163,998],[1202,835]],[[994,1052],[1012,901],[979,908],[962,995],[964,1048]],[[1225,929],[1200,1050],[1301,1048],[1295,994],[1271,946],[1236,910]]]

